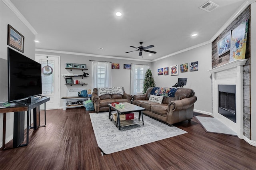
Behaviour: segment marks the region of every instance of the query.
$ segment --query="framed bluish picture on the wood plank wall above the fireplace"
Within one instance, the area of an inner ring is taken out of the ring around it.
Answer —
[[[231,31],[228,34],[226,34],[224,38],[217,43],[218,56],[230,50],[230,42],[231,42]]]

